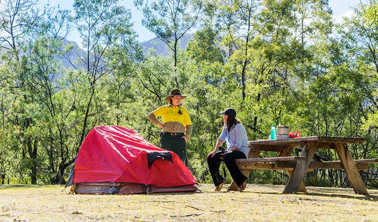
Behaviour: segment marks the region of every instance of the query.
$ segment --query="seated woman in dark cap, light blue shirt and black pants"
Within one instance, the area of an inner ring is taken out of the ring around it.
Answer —
[[[228,108],[219,114],[223,114],[224,125],[214,150],[207,154],[208,168],[215,185],[215,191],[221,190],[226,182],[226,179],[219,173],[219,166],[222,161],[226,164],[232,179],[238,185],[238,191],[242,191],[245,188],[247,177],[241,173],[235,159],[245,159],[248,156],[247,133],[239,119],[236,118],[234,109]],[[222,153],[222,151],[218,151],[218,148],[226,140],[227,150]]]

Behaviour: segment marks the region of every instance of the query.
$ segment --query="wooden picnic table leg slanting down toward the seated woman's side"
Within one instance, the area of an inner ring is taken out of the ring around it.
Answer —
[[[309,168],[309,163],[312,160],[313,155],[315,154],[316,150],[316,143],[309,142],[302,146],[302,152],[300,156],[305,156],[305,160],[297,161],[294,170],[287,180],[285,188],[283,189],[283,193],[297,193],[299,187],[307,173],[307,169]]]

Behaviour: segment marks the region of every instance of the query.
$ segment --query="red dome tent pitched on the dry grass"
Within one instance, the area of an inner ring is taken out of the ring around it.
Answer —
[[[158,148],[121,126],[97,126],[89,132],[69,174],[66,187],[70,185],[74,193],[199,190],[174,152]]]

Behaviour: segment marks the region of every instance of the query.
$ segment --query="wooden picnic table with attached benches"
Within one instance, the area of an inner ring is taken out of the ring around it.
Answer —
[[[283,140],[257,140],[249,141],[250,147],[247,159],[237,159],[236,162],[241,172],[248,177],[252,169],[262,170],[286,170],[289,179],[286,182],[283,193],[307,193],[303,183],[305,174],[313,169],[341,169],[358,194],[368,194],[368,190],[358,170],[368,170],[369,164],[378,163],[378,159],[353,160],[347,144],[360,144],[364,139],[360,137],[301,137]],[[301,147],[299,156],[292,156],[294,147]],[[315,151],[319,148],[335,149],[340,161],[312,161]],[[278,153],[277,157],[259,158],[261,151]],[[237,190],[237,185],[232,182],[228,190]]]

